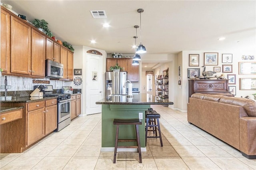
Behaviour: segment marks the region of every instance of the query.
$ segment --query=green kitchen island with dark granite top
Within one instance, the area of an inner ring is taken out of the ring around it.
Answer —
[[[147,93],[136,95],[113,95],[97,101],[102,105],[102,138],[101,151],[114,151],[116,125],[114,119],[138,119],[142,113],[142,125],[139,125],[141,151],[146,152],[145,147],[145,111],[150,105],[173,105],[168,99],[159,99]],[[119,138],[136,138],[134,125],[120,126]],[[124,146],[136,145],[136,142],[122,142]],[[122,151],[136,151],[134,148],[120,148]]]

